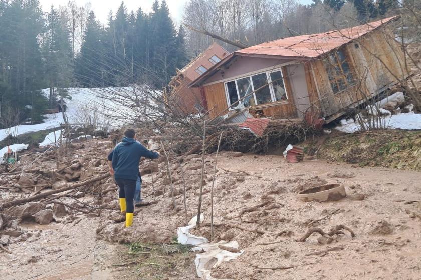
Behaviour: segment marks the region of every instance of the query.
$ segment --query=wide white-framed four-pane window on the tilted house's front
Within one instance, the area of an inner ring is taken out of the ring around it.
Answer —
[[[225,85],[229,106],[245,96],[241,102],[246,107],[288,100],[281,69],[243,77]]]

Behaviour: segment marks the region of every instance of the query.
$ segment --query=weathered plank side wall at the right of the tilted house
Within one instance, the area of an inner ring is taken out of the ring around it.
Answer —
[[[342,92],[333,93],[323,57],[310,62],[313,81],[308,79],[307,84],[318,90],[323,116],[352,108],[364,98],[378,94],[379,89],[407,77],[402,71],[403,52],[399,43],[390,39],[387,32],[380,29],[368,33],[343,47],[356,81]],[[311,94],[310,100],[314,96]]]

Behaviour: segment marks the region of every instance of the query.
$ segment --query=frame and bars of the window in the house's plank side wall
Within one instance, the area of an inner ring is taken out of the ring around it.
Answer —
[[[340,60],[340,57],[338,54],[339,52],[343,54],[344,60],[342,61]],[[334,62],[332,61],[333,59],[335,60]],[[340,94],[355,86],[356,83],[354,80],[352,63],[349,59],[349,56],[346,50],[344,50],[343,48],[336,49],[334,52],[327,54],[326,60],[328,63],[328,65],[325,66],[326,72],[327,72],[327,78],[329,80],[329,84],[334,95]],[[343,70],[343,63],[346,63],[348,65],[349,71],[347,73]],[[335,75],[332,77],[330,72],[332,71],[331,69],[333,68],[334,68],[333,71],[335,71]],[[339,75],[337,74],[338,72],[339,72]],[[352,81],[348,80],[349,75],[351,76]],[[344,83],[345,85],[344,88],[340,87],[340,82]],[[334,87],[333,87],[334,84],[336,85],[336,88],[338,89],[337,91],[334,90]]]

